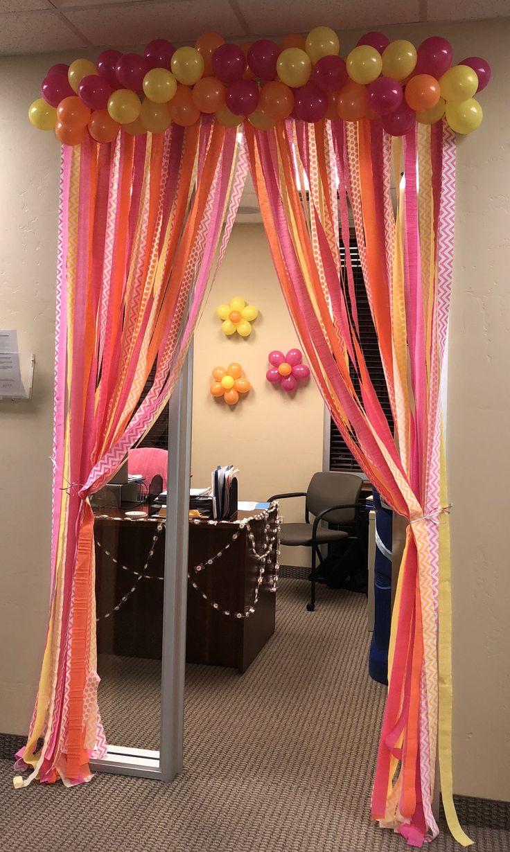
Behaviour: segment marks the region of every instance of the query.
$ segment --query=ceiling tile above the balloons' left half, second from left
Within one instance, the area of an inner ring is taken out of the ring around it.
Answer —
[[[68,20],[93,44],[140,44],[165,37],[193,42],[206,30],[225,37],[245,33],[227,0],[171,0],[170,3],[132,3],[103,9],[62,9]]]

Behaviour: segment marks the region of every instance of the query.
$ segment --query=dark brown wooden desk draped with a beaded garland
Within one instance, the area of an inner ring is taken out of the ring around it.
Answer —
[[[98,653],[160,659],[163,630],[163,581],[165,571],[165,527],[158,535],[154,556],[147,560],[157,533],[157,517],[131,520],[121,509],[97,509],[96,602]],[[238,513],[238,521],[247,512]],[[276,509],[269,515],[271,530]],[[251,521],[253,549],[264,550],[265,520]],[[232,540],[237,532],[238,538]],[[272,533],[271,533],[272,534]],[[223,550],[223,556],[200,572],[194,566],[206,563]],[[276,548],[272,553],[274,566]],[[113,561],[116,559],[117,561]],[[143,566],[148,561],[148,568]],[[275,593],[264,578],[255,612],[247,619],[224,615],[212,606],[216,602],[229,613],[246,612],[252,606],[257,585],[259,561],[253,555],[246,527],[235,521],[189,523],[188,617],[186,659],[189,663],[234,666],[246,671],[275,630]],[[267,569],[266,569],[267,571]],[[134,572],[149,578],[136,582]],[[272,573],[272,572],[271,572]],[[194,589],[195,582],[199,589]],[[135,586],[135,591],[130,590]],[[209,601],[204,600],[206,594]],[[128,596],[129,595],[129,596]],[[128,596],[122,602],[123,596]],[[119,610],[114,607],[121,602]],[[105,615],[112,613],[107,618]]]

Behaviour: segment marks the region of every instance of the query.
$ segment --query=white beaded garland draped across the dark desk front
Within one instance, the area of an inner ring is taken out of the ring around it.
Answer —
[[[269,521],[269,514],[270,514],[271,511],[273,511],[274,508],[276,509],[276,519],[275,519],[275,525],[271,529],[271,525],[269,524],[268,521]],[[264,582],[264,574],[266,573],[266,567],[269,567],[272,564],[272,556],[273,556],[274,550],[276,551],[276,561],[275,561],[275,568],[274,568],[273,576],[269,578],[269,591],[272,591],[272,592],[276,591],[277,584],[278,584],[278,571],[279,571],[279,567],[280,567],[279,564],[278,564],[278,557],[280,556],[279,544],[280,544],[281,515],[280,515],[279,509],[278,509],[278,504],[274,504],[273,509],[264,509],[258,515],[252,515],[252,517],[246,518],[243,521],[239,521],[239,530],[236,530],[236,532],[232,535],[232,538],[230,539],[230,541],[227,544],[223,545],[222,550],[218,550],[217,554],[212,556],[210,559],[207,559],[206,561],[200,562],[198,565],[194,565],[194,567],[192,567],[188,571],[188,579],[190,581],[192,588],[200,593],[200,595],[209,604],[210,607],[212,607],[213,609],[216,609],[217,612],[222,613],[223,615],[225,615],[227,617],[231,617],[231,618],[235,618],[235,619],[248,619],[255,612],[255,607],[257,606],[257,603],[258,603],[258,591],[259,591],[261,585]],[[102,516],[97,515],[97,517],[98,518],[108,517],[109,520],[112,520],[111,518],[109,518],[108,515],[102,515]],[[113,520],[115,520],[115,519],[113,519]],[[122,520],[122,518],[119,518],[117,520]],[[194,524],[202,523],[202,521],[200,521],[200,519],[198,519],[198,518],[192,519],[192,521],[193,521]],[[255,550],[255,536],[252,533],[252,527],[251,527],[251,523],[253,521],[265,521],[265,525],[264,525],[264,548],[263,548],[261,553],[257,553],[257,551]],[[207,523],[212,525],[212,526],[216,526],[218,522],[219,521],[207,521]],[[159,533],[161,532],[163,527],[165,527],[165,523],[164,523],[164,521],[160,521],[159,524],[158,524],[158,527],[157,527],[157,533],[156,533],[156,535],[153,536],[153,543],[151,544],[151,549],[148,552],[148,558],[147,558],[147,561],[145,562],[145,564],[142,568],[142,571],[140,571],[140,572],[134,571],[132,568],[129,568],[126,565],[120,566],[120,567],[123,568],[124,571],[128,571],[129,573],[132,573],[136,577],[136,580],[135,580],[133,586],[130,588],[130,590],[128,592],[126,592],[126,594],[124,596],[122,596],[119,603],[115,607],[113,607],[113,610],[111,610],[111,612],[109,612],[109,613],[105,613],[105,615],[98,616],[96,618],[96,621],[100,621],[101,619],[108,619],[108,618],[110,618],[110,616],[113,615],[113,613],[119,612],[120,607],[124,606],[125,602],[127,602],[129,600],[130,596],[133,594],[133,592],[136,591],[138,583],[140,582],[141,579],[157,579],[157,580],[163,581],[163,579],[164,579],[163,577],[156,577],[156,576],[154,576],[154,574],[145,573],[148,569],[148,563],[150,562],[150,560],[154,556],[154,549],[155,549],[156,543],[157,543],[158,538],[159,538]],[[250,545],[250,550],[252,551],[252,555],[260,563],[260,565],[259,565],[259,568],[258,568],[257,584],[255,586],[255,592],[254,592],[254,596],[253,596],[252,606],[248,607],[248,609],[245,610],[243,613],[240,613],[240,612],[235,612],[235,611],[231,612],[229,609],[225,609],[224,607],[222,607],[216,601],[212,601],[212,599],[208,595],[206,595],[205,592],[203,592],[200,589],[199,584],[196,582],[196,580],[193,579],[193,577],[197,573],[200,573],[201,571],[206,570],[207,567],[213,565],[214,562],[217,561],[218,559],[221,559],[225,550],[229,550],[230,546],[237,540],[237,538],[239,538],[239,535],[241,533],[241,529],[243,529],[244,527],[246,527],[246,535],[247,535],[248,542],[249,542],[249,545]],[[271,533],[272,533],[272,535],[271,535]],[[103,551],[105,556],[108,556],[114,562],[115,565],[119,565],[119,562],[115,559],[114,556],[112,556],[112,554],[108,550],[103,550],[101,542],[97,541],[96,544]],[[268,577],[269,577],[269,573],[268,573]]]

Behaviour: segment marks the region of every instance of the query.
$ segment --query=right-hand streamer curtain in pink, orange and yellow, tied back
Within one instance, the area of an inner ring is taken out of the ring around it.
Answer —
[[[380,121],[362,119],[287,121],[268,131],[248,126],[246,141],[276,273],[316,382],[368,480],[409,520],[391,625],[373,817],[411,845],[436,837],[438,755],[449,826],[466,845],[452,800],[449,507],[440,395],[455,136],[435,124],[392,139]],[[395,435],[364,357],[350,215]]]

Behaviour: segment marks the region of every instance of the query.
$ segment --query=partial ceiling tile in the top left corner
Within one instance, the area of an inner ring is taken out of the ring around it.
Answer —
[[[46,53],[86,46],[55,11],[0,15],[0,55]]]

